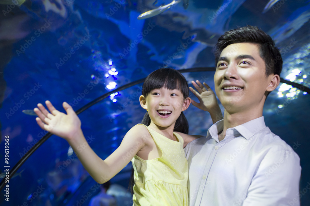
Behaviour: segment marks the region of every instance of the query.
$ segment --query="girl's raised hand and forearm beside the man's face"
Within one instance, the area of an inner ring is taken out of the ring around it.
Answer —
[[[193,92],[199,100],[199,103],[197,103],[192,99],[192,104],[201,110],[208,111],[210,113],[213,124],[219,120],[222,120],[222,111],[219,108],[219,104],[217,103],[215,93],[211,90],[210,86],[205,82],[201,84],[198,80],[196,80],[196,82],[192,81],[192,84],[197,91],[192,87],[189,87],[189,90]]]

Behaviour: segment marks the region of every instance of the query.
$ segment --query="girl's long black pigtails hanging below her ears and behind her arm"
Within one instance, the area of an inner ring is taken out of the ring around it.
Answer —
[[[144,124],[145,126],[148,126],[151,124],[151,118],[148,115],[148,112],[145,113],[141,124]],[[184,134],[188,134],[188,121],[183,113],[181,112],[179,118],[175,122],[175,127],[173,129],[174,132],[182,132]],[[135,180],[134,180],[134,168],[131,166],[131,174],[130,174],[130,181],[129,181],[129,188],[131,191],[131,194],[134,193],[134,185],[135,185]]]

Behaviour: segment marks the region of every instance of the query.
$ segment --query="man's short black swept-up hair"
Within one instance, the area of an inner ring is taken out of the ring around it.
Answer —
[[[278,74],[280,76],[283,61],[279,49],[268,34],[254,26],[232,29],[220,36],[214,50],[215,65],[217,65],[219,56],[224,48],[235,43],[258,44],[259,55],[266,65],[266,76],[270,74]]]

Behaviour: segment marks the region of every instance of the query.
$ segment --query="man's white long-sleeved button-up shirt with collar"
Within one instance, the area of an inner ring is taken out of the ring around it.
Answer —
[[[300,205],[299,156],[259,117],[226,131],[223,120],[185,147],[189,205]]]

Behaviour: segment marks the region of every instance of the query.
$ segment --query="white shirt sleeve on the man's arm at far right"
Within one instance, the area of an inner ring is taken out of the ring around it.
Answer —
[[[268,151],[255,173],[243,206],[300,205],[299,156],[293,149]]]

